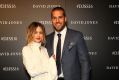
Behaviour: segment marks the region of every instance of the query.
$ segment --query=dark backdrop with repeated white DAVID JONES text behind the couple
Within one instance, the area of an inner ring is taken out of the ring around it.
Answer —
[[[91,58],[91,80],[119,80],[118,0],[0,0],[0,80],[28,80],[22,64],[26,28],[33,22],[53,31],[52,8],[66,10],[68,27],[81,31]]]

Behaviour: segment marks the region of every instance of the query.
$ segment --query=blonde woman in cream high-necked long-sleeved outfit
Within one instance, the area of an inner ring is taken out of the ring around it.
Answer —
[[[56,80],[57,69],[54,56],[48,56],[44,47],[45,28],[32,22],[27,29],[27,45],[23,47],[23,64],[31,80]]]

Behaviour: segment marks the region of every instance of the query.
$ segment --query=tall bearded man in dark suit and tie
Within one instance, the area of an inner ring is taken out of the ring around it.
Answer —
[[[58,80],[89,80],[91,66],[82,33],[67,27],[61,7],[52,9],[51,20],[55,31],[46,37],[46,48],[49,56],[56,55]]]

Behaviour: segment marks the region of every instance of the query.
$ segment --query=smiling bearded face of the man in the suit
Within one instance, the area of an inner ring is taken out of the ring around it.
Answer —
[[[52,12],[52,25],[58,32],[62,31],[66,24],[66,17],[63,15],[62,10],[55,10]]]

